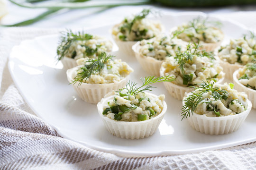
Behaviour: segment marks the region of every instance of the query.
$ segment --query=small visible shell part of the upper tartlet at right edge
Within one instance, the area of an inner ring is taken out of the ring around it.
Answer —
[[[229,80],[233,79],[233,73],[239,68],[243,68],[244,66],[238,64],[230,64],[227,61],[223,61],[219,59],[219,65],[223,68],[223,72],[226,73],[225,77]]]

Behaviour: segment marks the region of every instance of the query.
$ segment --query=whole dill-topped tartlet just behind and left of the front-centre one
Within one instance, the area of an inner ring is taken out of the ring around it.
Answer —
[[[105,94],[126,85],[133,69],[113,57],[100,52],[96,58],[79,59],[79,66],[67,70],[67,79],[82,100],[96,104]]]

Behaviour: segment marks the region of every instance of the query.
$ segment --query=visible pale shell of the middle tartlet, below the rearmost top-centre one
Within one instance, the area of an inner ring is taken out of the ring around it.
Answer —
[[[135,57],[137,61],[147,73],[153,76],[159,76],[160,75],[159,70],[164,60],[158,60],[153,57],[146,57],[141,53],[139,53],[139,48],[140,48],[139,43],[140,42],[137,42],[132,46],[132,50],[135,53]]]

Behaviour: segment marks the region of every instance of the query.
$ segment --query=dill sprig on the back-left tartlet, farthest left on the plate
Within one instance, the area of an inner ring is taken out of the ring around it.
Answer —
[[[67,30],[66,32],[63,32],[57,47],[58,60],[61,60],[68,53],[73,42],[91,40],[92,37],[93,35],[84,34],[83,31],[73,33],[71,30]]]

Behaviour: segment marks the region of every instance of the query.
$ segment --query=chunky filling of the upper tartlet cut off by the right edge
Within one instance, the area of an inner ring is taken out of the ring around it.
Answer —
[[[254,38],[230,39],[228,45],[220,47],[219,58],[230,64],[246,65],[256,60],[256,40]]]

